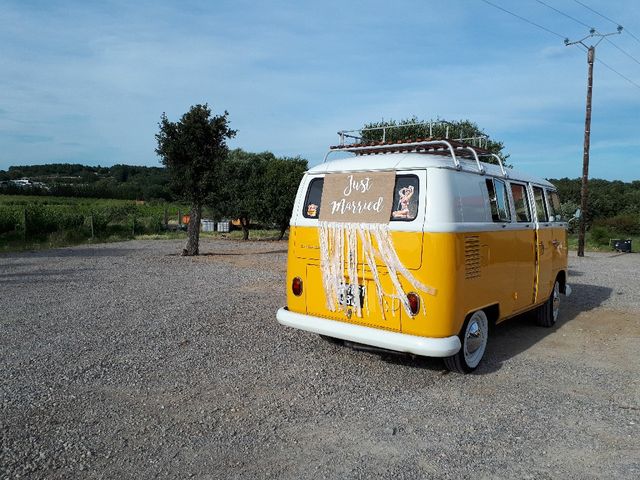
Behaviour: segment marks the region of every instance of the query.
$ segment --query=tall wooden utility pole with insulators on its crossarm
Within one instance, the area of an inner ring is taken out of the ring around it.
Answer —
[[[578,256],[584,257],[584,237],[586,230],[585,214],[587,213],[587,198],[589,186],[589,149],[591,147],[591,95],[593,93],[593,62],[596,59],[596,47],[605,38],[611,35],[622,33],[622,25],[618,25],[618,29],[611,33],[598,33],[595,28],[589,31],[589,35],[575,42],[564,39],[564,44],[582,45],[587,49],[587,64],[589,65],[589,74],[587,77],[587,108],[584,118],[584,152],[582,156],[582,188],[580,189],[580,230],[578,233]],[[588,38],[598,38],[595,45],[586,45],[584,41]]]

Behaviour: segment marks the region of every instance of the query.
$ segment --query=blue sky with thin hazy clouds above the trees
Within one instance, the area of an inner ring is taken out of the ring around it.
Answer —
[[[417,116],[470,119],[517,169],[580,176],[587,61],[563,38],[588,28],[536,0],[491,1],[555,34],[482,0],[0,0],[0,169],[159,166],[162,113],[208,103],[229,112],[231,148],[310,165],[338,130]],[[616,31],[575,0],[545,3]],[[636,84],[595,64],[590,177],[638,180],[640,3],[582,3],[630,32],[596,57]]]

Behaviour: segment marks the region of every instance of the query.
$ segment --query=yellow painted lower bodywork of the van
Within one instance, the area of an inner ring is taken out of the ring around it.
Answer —
[[[436,294],[430,295],[400,279],[405,292],[415,291],[421,298],[420,311],[415,316],[409,315],[398,299],[388,295],[381,307],[372,274],[362,263],[358,269],[358,284],[365,287],[362,316],[352,307],[330,311],[322,285],[316,227],[291,227],[287,308],[331,320],[442,338],[457,335],[467,315],[482,308],[497,308],[498,322],[534,308],[549,298],[558,272],[567,269],[563,228],[548,229],[540,239],[548,253],[541,263],[536,258],[537,237],[533,228],[450,233],[392,231],[391,237],[400,261],[418,280],[436,289]],[[563,245],[558,248],[554,242]],[[361,258],[360,248],[358,252]],[[540,275],[541,271],[546,273]],[[381,266],[379,273],[383,290],[393,292],[386,268]],[[295,277],[303,281],[300,296],[291,289]],[[536,289],[536,281],[542,277],[544,282]]]

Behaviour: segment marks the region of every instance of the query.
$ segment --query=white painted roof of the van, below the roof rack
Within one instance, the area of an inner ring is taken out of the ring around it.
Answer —
[[[461,171],[474,173],[478,172],[478,165],[473,160],[459,158]],[[504,177],[498,165],[481,162],[486,170],[486,175],[494,177]],[[409,153],[384,153],[373,155],[356,155],[348,158],[332,160],[320,163],[309,169],[312,175],[336,172],[354,172],[369,170],[422,170],[425,168],[448,168],[455,170],[453,159],[448,155],[433,155],[418,152]],[[547,180],[519,172],[517,170],[506,169],[509,180],[519,180],[531,182],[538,185],[552,187],[553,184]]]

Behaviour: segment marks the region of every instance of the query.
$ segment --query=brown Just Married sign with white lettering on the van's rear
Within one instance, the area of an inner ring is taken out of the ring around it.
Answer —
[[[320,201],[320,220],[389,223],[395,179],[395,172],[326,175]]]

